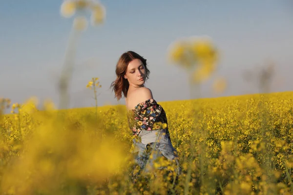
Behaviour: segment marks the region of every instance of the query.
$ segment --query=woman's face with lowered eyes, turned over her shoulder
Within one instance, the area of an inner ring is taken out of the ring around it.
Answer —
[[[129,82],[129,85],[140,86],[146,81],[146,69],[140,59],[133,59],[129,62],[124,76]]]

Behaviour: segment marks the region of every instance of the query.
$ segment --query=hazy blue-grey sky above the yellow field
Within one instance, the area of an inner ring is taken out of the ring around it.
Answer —
[[[63,64],[72,18],[60,15],[62,0],[10,0],[0,6],[0,97],[22,103],[31,96],[58,105],[57,78]],[[89,26],[78,44],[70,85],[70,107],[94,105],[88,80],[99,77],[99,105],[117,102],[109,89],[120,55],[133,50],[149,65],[146,82],[157,101],[188,99],[186,73],[167,63],[175,39],[207,35],[220,50],[218,70],[203,83],[201,97],[216,76],[227,78],[220,96],[257,93],[242,78],[271,60],[276,65],[272,92],[292,91],[293,2],[291,0],[101,0],[103,25]]]

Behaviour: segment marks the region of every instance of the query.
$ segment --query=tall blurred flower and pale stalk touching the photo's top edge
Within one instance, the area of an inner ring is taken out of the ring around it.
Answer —
[[[81,33],[87,28],[86,13],[91,13],[91,24],[98,25],[105,20],[105,8],[95,0],[64,0],[61,5],[61,14],[65,18],[74,17],[69,41],[65,52],[63,69],[59,80],[60,109],[69,107],[69,82],[74,70],[77,43]]]

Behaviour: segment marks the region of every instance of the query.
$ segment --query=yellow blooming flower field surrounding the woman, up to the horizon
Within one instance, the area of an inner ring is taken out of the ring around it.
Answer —
[[[0,117],[0,194],[292,194],[293,92],[158,102],[182,174],[164,159],[132,182],[126,107],[54,110],[34,101]],[[10,104],[2,100],[2,107]]]

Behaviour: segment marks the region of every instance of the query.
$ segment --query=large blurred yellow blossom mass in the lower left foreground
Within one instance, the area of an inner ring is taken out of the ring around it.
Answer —
[[[126,163],[126,152],[112,137],[102,139],[93,131],[73,126],[72,121],[63,123],[51,117],[42,121],[23,143],[21,156],[3,172],[1,192],[80,194],[84,183],[102,182]]]

